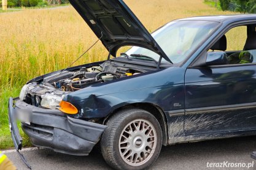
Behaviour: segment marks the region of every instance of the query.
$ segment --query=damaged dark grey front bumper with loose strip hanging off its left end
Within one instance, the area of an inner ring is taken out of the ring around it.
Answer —
[[[88,155],[106,128],[105,125],[74,119],[55,109],[38,108],[18,98],[10,98],[9,125],[16,150],[22,146],[16,119],[20,120],[22,130],[34,146],[70,155]]]

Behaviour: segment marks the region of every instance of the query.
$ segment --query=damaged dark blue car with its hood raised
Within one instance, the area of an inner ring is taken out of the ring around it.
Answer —
[[[109,56],[9,99],[17,150],[17,119],[34,146],[88,155],[99,142],[115,169],[148,168],[162,145],[256,134],[256,15],[185,18],[150,35],[122,0],[69,1]],[[122,46],[133,47],[119,56]]]

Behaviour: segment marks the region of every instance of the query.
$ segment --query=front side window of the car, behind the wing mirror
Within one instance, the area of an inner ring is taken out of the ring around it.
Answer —
[[[224,53],[226,64],[256,63],[256,24],[230,29],[210,50]]]

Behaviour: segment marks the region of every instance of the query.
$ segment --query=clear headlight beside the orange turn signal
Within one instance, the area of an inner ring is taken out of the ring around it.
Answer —
[[[57,109],[60,106],[60,102],[62,101],[63,97],[60,97],[58,95],[54,94],[45,94],[42,95],[42,100],[41,100],[41,106],[49,109]]]

